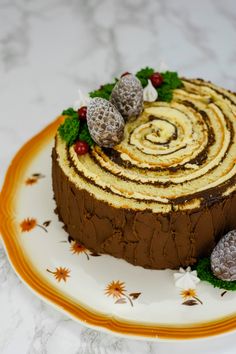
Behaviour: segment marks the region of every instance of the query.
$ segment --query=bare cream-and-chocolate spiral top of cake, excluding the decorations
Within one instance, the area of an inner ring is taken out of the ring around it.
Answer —
[[[145,104],[112,149],[77,156],[57,136],[60,166],[78,188],[115,207],[168,213],[236,190],[236,95],[183,79],[170,103]]]

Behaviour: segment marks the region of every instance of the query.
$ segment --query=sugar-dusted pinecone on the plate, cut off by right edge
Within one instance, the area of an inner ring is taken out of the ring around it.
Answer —
[[[214,275],[225,281],[236,280],[236,230],[228,232],[211,254]]]

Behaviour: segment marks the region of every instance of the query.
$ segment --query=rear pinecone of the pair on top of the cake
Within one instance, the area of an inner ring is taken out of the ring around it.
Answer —
[[[122,76],[112,90],[110,101],[125,120],[137,118],[143,110],[143,88],[139,79],[132,74]]]

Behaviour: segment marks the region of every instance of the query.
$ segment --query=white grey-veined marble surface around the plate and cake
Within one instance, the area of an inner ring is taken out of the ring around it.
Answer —
[[[161,60],[236,91],[234,0],[0,0],[0,183],[11,158],[71,105],[123,71]],[[0,244],[0,353],[232,354],[236,333],[152,343],[87,329],[40,301]]]

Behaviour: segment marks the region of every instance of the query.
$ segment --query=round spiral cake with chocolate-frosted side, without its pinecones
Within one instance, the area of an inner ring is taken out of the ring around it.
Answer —
[[[158,97],[146,92],[138,116],[125,117],[118,144],[94,143],[78,154],[75,139],[68,144],[58,131],[56,211],[93,252],[151,269],[186,267],[236,228],[236,95],[201,79],[168,87],[167,74],[158,84],[137,77]]]

